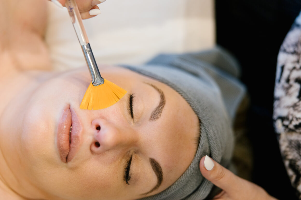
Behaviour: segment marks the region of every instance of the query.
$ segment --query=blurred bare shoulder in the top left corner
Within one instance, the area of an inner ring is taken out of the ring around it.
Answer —
[[[0,0],[0,56],[11,65],[0,68],[39,70],[49,67],[48,50],[44,42],[47,25],[46,1]]]

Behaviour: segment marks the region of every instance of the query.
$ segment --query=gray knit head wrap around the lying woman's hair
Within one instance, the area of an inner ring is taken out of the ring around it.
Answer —
[[[189,167],[167,189],[143,199],[206,198],[213,184],[200,173],[200,159],[208,155],[227,168],[231,163],[231,120],[245,91],[235,79],[239,74],[235,60],[215,48],[201,53],[159,55],[146,66],[124,67],[170,86],[182,95],[200,120],[199,146]]]

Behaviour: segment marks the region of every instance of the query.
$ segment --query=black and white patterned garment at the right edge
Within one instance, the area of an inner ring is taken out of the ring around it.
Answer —
[[[301,13],[278,54],[274,98],[273,119],[280,151],[301,199]]]

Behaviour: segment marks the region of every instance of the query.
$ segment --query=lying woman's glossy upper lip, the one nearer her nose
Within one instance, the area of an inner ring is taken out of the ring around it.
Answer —
[[[81,136],[82,136],[82,124],[77,116],[75,110],[70,107],[71,116],[72,116],[72,129],[71,129],[71,142],[70,142],[70,151],[67,156],[67,162],[70,162],[79,151],[81,145]],[[69,127],[70,128],[70,127]],[[70,130],[70,129],[69,129]],[[69,134],[68,134],[68,143],[69,143]]]

